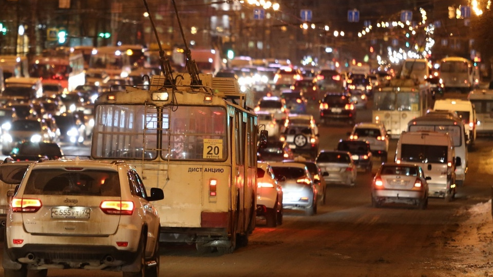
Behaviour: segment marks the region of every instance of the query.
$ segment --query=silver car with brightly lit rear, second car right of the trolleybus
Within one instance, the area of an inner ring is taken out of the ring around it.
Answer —
[[[282,187],[282,208],[317,213],[317,188],[304,164],[296,162],[270,163]]]

